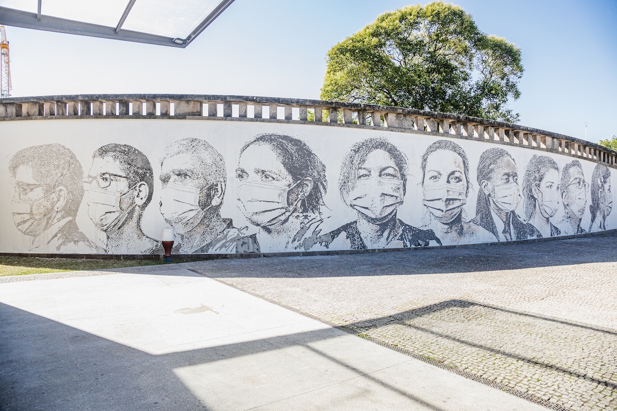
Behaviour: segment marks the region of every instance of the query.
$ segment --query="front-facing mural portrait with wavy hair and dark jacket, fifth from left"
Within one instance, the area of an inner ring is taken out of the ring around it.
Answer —
[[[441,245],[433,230],[397,218],[407,176],[407,157],[388,140],[370,138],[352,145],[342,161],[339,190],[357,219],[321,235],[316,243],[340,250]]]

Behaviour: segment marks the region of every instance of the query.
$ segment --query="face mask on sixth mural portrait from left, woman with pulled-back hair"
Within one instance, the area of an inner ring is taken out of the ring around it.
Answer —
[[[426,187],[422,203],[437,221],[446,224],[457,218],[466,201],[465,187],[456,184],[442,184]]]

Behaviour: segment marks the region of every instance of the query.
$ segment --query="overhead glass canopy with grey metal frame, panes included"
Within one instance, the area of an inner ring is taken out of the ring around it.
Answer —
[[[233,0],[0,0],[0,25],[186,47]]]

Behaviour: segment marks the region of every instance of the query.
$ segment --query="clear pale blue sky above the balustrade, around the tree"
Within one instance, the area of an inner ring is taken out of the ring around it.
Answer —
[[[186,49],[7,27],[12,96],[238,94],[318,99],[329,47],[406,1],[236,0]],[[426,2],[423,2],[426,4]],[[521,47],[525,126],[617,134],[617,0],[459,0]]]

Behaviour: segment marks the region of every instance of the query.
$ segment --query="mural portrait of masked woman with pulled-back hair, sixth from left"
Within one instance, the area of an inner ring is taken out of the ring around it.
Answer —
[[[443,244],[468,244],[492,240],[482,227],[463,219],[470,189],[469,160],[463,148],[450,140],[437,140],[421,158],[422,203],[428,223]]]

